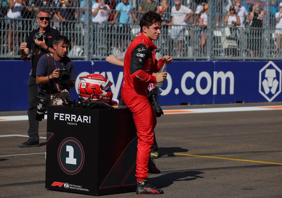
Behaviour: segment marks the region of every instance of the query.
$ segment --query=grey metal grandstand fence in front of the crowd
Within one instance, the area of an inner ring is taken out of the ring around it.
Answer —
[[[0,2],[1,59],[19,58],[20,43],[38,28],[35,13],[41,7],[52,13],[50,26],[71,41],[73,59],[105,59],[125,51],[140,31],[137,22],[146,8],[163,14],[162,33],[154,42],[161,54],[175,60],[281,60],[282,55],[280,0],[245,0],[241,5],[238,0]]]

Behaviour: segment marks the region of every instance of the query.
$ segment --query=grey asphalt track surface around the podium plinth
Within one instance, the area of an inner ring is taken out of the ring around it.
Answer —
[[[163,106],[169,109],[274,106],[282,102]],[[26,111],[0,116],[27,115]],[[236,111],[162,115],[155,129],[160,174],[151,182],[164,190],[157,197],[282,197],[282,111]],[[39,126],[46,137],[47,121]],[[45,189],[46,139],[41,147],[20,148],[28,121],[0,122],[0,197],[89,197]],[[32,155],[20,155],[39,153]],[[173,154],[174,153],[174,154]],[[3,156],[9,155],[9,156]],[[105,153],[111,157],[111,153]],[[211,158],[213,157],[213,158]],[[266,163],[268,162],[268,163]],[[277,164],[275,164],[277,163]],[[123,193],[104,197],[137,197]]]

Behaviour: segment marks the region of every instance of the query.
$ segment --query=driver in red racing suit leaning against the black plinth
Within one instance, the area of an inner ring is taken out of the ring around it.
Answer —
[[[164,193],[147,179],[149,157],[154,142],[153,130],[157,124],[155,110],[148,100],[147,87],[149,83],[164,82],[167,73],[157,72],[165,60],[167,64],[173,61],[170,56],[155,60],[157,46],[152,40],[158,40],[162,22],[163,19],[157,12],[147,11],[140,19],[141,33],[130,43],[124,57],[121,96],[133,115],[139,137],[136,156],[136,194]]]

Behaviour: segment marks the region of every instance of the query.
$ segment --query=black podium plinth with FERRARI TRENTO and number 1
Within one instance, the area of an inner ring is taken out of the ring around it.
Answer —
[[[89,195],[135,192],[137,139],[127,108],[48,106],[45,188]]]

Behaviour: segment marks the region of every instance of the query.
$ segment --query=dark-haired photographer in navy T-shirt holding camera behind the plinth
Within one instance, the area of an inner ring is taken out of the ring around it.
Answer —
[[[54,54],[45,54],[38,61],[36,83],[40,85],[41,93],[44,90],[50,94],[45,106],[61,105],[70,99],[69,88],[75,85],[76,73],[73,61],[67,57],[69,45],[70,41],[65,36],[55,37]]]

